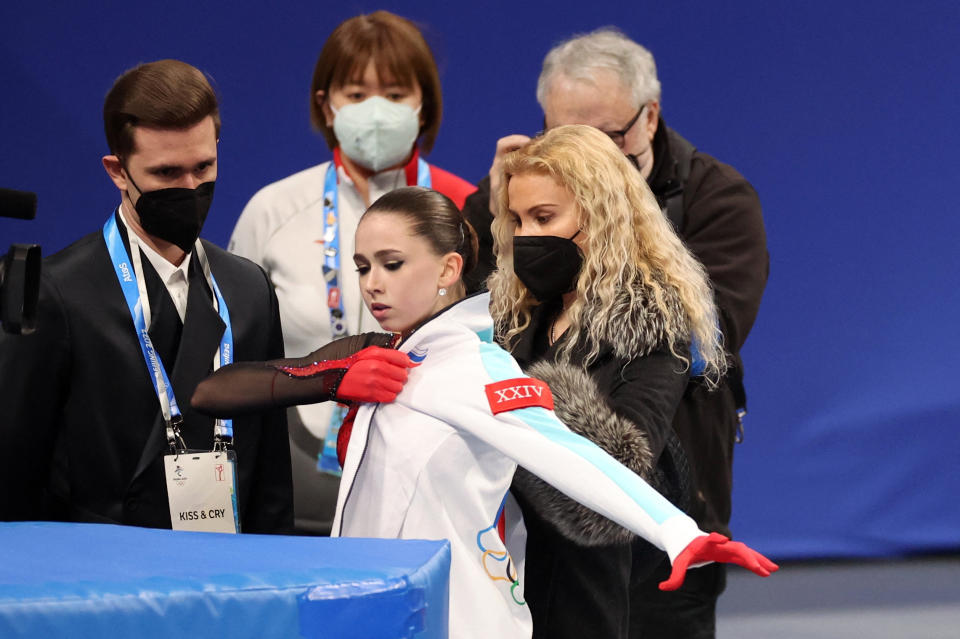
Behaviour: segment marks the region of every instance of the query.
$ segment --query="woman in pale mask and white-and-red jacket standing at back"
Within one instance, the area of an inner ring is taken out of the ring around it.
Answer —
[[[440,128],[442,98],[433,54],[409,20],[377,11],[341,23],[320,52],[310,97],[313,126],[333,159],[261,189],[229,246],[273,282],[288,357],[378,329],[352,263],[354,233],[371,202],[420,185],[462,207],[475,190],[421,157]],[[324,403],[292,408],[288,418],[295,525],[326,534],[338,479],[322,470],[339,470],[336,428],[343,414]]]

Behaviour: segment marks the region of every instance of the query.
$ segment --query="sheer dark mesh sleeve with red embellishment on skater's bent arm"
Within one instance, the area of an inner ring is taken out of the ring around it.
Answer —
[[[346,358],[368,346],[388,347],[386,333],[351,335],[305,357],[237,362],[200,382],[190,404],[212,417],[237,417],[276,407],[334,399],[347,372]]]

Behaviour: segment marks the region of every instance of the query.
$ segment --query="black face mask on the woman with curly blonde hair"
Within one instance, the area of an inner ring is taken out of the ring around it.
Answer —
[[[554,235],[513,238],[513,272],[541,302],[569,293],[577,286],[583,254],[573,238]]]

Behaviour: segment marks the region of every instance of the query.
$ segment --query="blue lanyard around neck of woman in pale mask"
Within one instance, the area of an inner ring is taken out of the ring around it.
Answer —
[[[430,165],[417,157],[417,186],[431,188]],[[323,185],[323,279],[327,284],[330,333],[333,339],[347,335],[347,317],[340,290],[340,214],[337,166],[330,162]]]

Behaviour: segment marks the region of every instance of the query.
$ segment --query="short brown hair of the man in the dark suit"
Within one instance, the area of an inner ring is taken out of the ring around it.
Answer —
[[[137,126],[184,129],[207,116],[220,137],[217,94],[200,69],[179,60],[138,65],[117,78],[103,102],[103,129],[110,152],[128,156]]]

